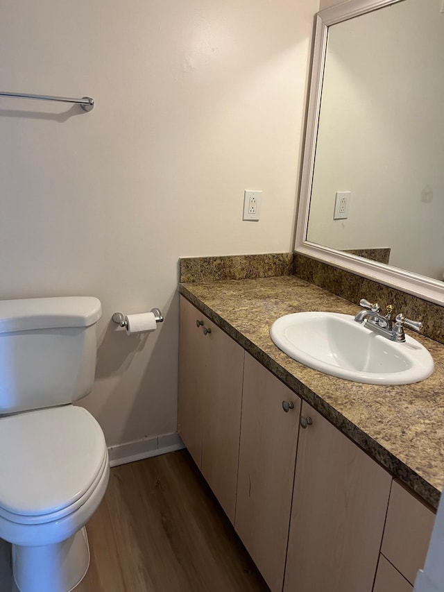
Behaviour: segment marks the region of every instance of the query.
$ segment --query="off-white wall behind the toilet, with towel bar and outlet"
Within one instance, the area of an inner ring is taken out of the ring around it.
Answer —
[[[176,431],[180,256],[292,248],[318,0],[3,1],[0,298],[103,304],[85,407],[109,445]],[[241,221],[244,189],[262,219]],[[112,313],[158,306],[148,339]]]

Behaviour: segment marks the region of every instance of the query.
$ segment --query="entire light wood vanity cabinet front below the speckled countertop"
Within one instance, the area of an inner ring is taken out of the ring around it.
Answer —
[[[432,509],[182,296],[178,432],[271,592],[411,591]]]

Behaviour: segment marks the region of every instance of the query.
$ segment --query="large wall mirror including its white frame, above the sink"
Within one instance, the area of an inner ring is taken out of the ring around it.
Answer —
[[[318,13],[295,248],[444,305],[442,10]]]

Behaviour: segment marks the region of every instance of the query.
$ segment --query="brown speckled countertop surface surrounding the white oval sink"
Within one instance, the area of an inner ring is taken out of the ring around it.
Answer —
[[[283,314],[356,314],[349,301],[296,276],[181,283],[180,293],[392,475],[433,507],[444,484],[444,346],[415,334],[435,371],[417,384],[381,387],[335,378],[291,360],[273,344]]]

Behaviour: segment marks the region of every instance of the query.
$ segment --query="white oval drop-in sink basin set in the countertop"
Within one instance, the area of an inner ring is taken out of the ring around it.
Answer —
[[[293,360],[355,382],[410,384],[434,371],[432,356],[416,339],[389,341],[349,314],[286,314],[271,325],[270,335]]]

